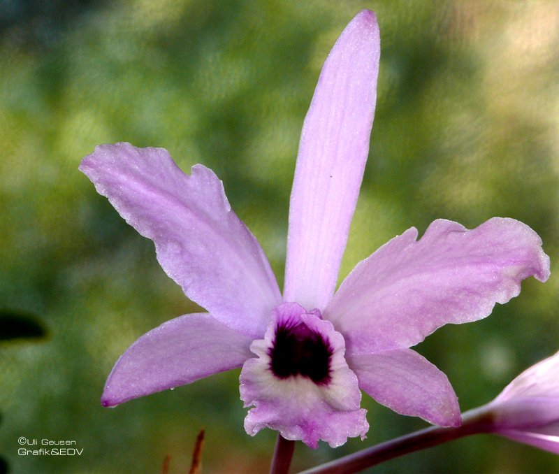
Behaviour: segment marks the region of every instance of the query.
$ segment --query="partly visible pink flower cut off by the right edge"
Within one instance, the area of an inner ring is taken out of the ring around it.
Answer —
[[[480,411],[492,413],[489,431],[559,454],[559,352],[526,369]]]

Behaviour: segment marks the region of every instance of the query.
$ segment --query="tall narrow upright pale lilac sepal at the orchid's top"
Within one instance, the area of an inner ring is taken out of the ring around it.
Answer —
[[[369,152],[379,28],[363,10],[322,69],[300,138],[289,206],[284,300],[324,310],[334,292]]]

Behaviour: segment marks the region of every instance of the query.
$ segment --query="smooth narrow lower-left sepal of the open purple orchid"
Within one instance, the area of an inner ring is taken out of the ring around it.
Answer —
[[[251,342],[207,313],[171,319],[122,354],[107,379],[101,403],[119,405],[238,368],[253,357]]]

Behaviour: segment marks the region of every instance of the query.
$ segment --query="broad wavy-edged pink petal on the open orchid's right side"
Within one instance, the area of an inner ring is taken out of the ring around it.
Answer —
[[[486,317],[517,296],[521,280],[549,277],[542,240],[522,222],[495,217],[468,231],[436,220],[421,240],[408,229],[361,261],[324,311],[348,353],[420,343],[447,323]]]

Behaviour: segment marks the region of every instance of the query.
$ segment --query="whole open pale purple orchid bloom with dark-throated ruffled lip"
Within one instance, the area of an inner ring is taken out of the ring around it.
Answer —
[[[358,13],[326,59],[303,132],[289,209],[283,296],[258,241],[200,164],[184,174],[161,148],[101,145],[80,170],[140,234],[184,294],[183,315],[133,343],[101,398],[114,406],[242,367],[250,435],[332,447],[368,431],[361,389],[396,412],[460,424],[446,375],[409,349],[447,323],[486,317],[549,276],[532,229],[494,218],[468,231],[408,229],[335,286],[368,157],[379,69],[375,14]]]

